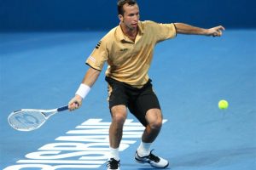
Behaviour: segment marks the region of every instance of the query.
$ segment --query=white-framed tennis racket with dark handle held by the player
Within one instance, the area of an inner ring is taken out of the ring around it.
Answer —
[[[52,110],[20,109],[8,116],[9,125],[19,131],[32,131],[41,127],[50,116],[60,111],[67,111],[68,105]]]

